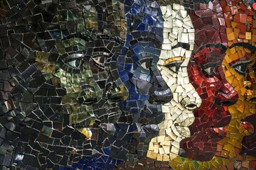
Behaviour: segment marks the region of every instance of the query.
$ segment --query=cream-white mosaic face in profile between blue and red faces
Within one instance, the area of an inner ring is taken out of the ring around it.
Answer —
[[[190,136],[193,109],[201,98],[188,80],[187,65],[193,50],[195,33],[191,18],[178,4],[161,6],[164,18],[164,43],[158,67],[174,98],[162,106],[165,120],[159,123],[159,136],[149,143],[147,157],[169,161],[178,155],[179,142]]]

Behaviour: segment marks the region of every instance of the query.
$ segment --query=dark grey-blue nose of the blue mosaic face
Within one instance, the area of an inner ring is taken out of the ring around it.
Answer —
[[[152,77],[153,86],[149,89],[149,103],[159,104],[171,101],[171,99],[173,98],[171,89],[169,89],[169,86],[167,86],[159,71],[155,72],[154,74],[157,75]]]

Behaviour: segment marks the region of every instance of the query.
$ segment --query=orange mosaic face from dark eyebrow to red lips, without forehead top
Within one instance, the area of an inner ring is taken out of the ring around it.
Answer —
[[[223,60],[225,79],[235,88],[239,96],[238,102],[228,108],[233,117],[229,126],[233,127],[230,132],[239,132],[240,135],[247,136],[252,134],[253,125],[242,121],[242,119],[255,114],[256,53],[255,47],[250,44],[236,45],[228,48]]]

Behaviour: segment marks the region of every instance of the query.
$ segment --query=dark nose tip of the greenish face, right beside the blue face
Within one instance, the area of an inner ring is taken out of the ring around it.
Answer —
[[[108,86],[107,98],[109,98],[110,101],[125,101],[128,98],[129,92],[121,79],[117,79]]]

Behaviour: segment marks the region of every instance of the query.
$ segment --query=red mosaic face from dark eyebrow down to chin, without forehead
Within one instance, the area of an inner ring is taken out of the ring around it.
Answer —
[[[188,77],[202,104],[194,110],[195,121],[191,125],[191,137],[181,141],[185,157],[200,161],[210,160],[217,142],[225,137],[225,125],[230,122],[228,106],[238,100],[235,89],[225,80],[221,62],[225,57],[222,45],[206,45],[191,57]]]

